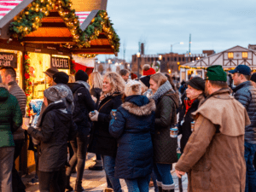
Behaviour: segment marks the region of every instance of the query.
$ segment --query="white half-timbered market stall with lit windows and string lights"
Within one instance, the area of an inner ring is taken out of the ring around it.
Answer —
[[[193,74],[205,78],[207,67],[221,65],[224,71],[229,71],[238,65],[247,65],[256,71],[256,51],[253,49],[243,48],[239,45],[226,49],[220,53],[209,55],[200,60],[191,61],[179,66],[180,81],[187,81]]]

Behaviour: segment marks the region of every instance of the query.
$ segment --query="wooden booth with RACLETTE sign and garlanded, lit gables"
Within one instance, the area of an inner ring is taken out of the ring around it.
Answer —
[[[107,1],[106,1],[107,3]],[[56,67],[75,73],[72,56],[117,54],[119,37],[105,10],[88,14],[72,9],[70,0],[4,0],[0,3],[0,67],[12,66],[30,103],[43,98],[44,71]],[[88,18],[88,20],[86,19]],[[21,174],[35,169],[29,137],[15,164]]]

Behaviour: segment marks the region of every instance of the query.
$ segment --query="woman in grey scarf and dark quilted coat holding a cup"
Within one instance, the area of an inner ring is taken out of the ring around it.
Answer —
[[[177,137],[170,137],[170,128],[176,125],[178,96],[162,73],[155,73],[149,80],[150,89],[156,103],[155,133],[153,137],[154,173],[159,191],[173,191],[175,184],[170,167],[177,162]]]

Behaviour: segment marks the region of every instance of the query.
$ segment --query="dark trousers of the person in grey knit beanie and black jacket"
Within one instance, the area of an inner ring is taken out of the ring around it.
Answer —
[[[66,168],[63,166],[60,171],[40,172],[39,189],[40,192],[65,192]]]

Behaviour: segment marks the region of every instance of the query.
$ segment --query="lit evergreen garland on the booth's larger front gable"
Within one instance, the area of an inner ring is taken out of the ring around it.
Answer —
[[[9,31],[14,38],[20,40],[30,32],[34,32],[42,26],[42,19],[49,15],[49,11],[55,9],[61,15],[67,28],[73,35],[73,41],[79,47],[88,47],[88,37],[80,29],[79,17],[75,15],[75,10],[71,9],[71,0],[35,0],[31,6],[26,7],[23,12],[10,23]]]

